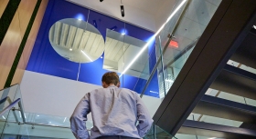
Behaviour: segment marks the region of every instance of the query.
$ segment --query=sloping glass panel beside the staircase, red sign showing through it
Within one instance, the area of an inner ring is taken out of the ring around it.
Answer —
[[[166,42],[166,32],[173,35],[164,55],[165,72],[162,70],[159,71],[159,74],[169,74],[165,75],[165,80],[162,79],[159,81],[159,86],[163,86],[162,84],[165,82],[166,92],[170,89],[183,65],[185,65],[188,56],[193,51],[197,40],[204,32],[220,2],[221,0],[203,2],[200,0],[191,0],[190,3],[187,3],[188,5],[185,9],[186,13],[182,14],[176,28],[167,25],[165,27],[169,27],[169,31],[165,28],[165,33],[160,34],[161,40],[158,43],[162,45],[162,49]],[[177,4],[179,3],[180,1],[177,2]],[[172,25],[175,25],[174,23],[176,22],[173,22]],[[162,92],[163,87],[160,88],[160,94],[162,94]]]

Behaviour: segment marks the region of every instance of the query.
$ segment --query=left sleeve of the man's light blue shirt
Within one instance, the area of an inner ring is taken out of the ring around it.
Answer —
[[[87,121],[87,114],[91,112],[89,104],[89,95],[85,94],[76,106],[73,114],[71,115],[70,128],[76,139],[89,139],[90,135],[86,129],[85,121]]]

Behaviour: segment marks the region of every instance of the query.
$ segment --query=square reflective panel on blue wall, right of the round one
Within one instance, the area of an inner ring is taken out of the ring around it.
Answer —
[[[107,29],[103,68],[123,73],[127,65],[132,62],[135,55],[141,51],[145,44],[144,41],[132,36]],[[147,62],[148,51],[145,50],[125,74],[147,79],[149,76],[149,65]]]

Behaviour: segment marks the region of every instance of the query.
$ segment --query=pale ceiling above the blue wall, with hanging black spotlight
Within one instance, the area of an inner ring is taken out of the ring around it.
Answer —
[[[121,16],[119,0],[67,0],[82,5],[105,15],[111,15],[156,32],[170,15],[176,0],[123,0],[125,16]]]

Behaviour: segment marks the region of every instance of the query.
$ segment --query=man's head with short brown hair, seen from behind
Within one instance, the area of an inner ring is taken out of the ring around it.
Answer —
[[[120,86],[119,76],[115,72],[108,72],[102,75],[102,86],[107,88],[109,85],[114,84],[117,87]]]

